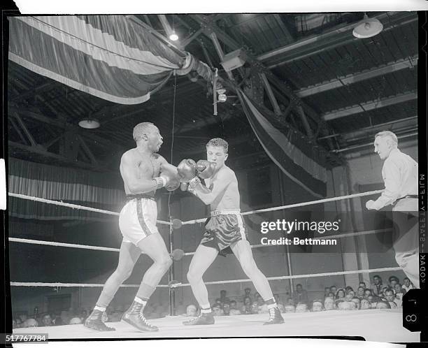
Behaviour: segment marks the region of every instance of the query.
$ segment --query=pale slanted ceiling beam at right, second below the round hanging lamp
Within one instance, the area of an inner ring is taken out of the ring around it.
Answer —
[[[340,117],[346,117],[357,113],[364,113],[369,110],[384,108],[385,106],[391,106],[398,103],[404,103],[405,101],[412,101],[418,99],[418,93],[408,92],[404,94],[397,94],[396,96],[390,96],[385,99],[376,99],[373,101],[366,101],[365,103],[359,103],[349,108],[334,110],[329,113],[324,113],[322,118],[324,121],[331,121]]]

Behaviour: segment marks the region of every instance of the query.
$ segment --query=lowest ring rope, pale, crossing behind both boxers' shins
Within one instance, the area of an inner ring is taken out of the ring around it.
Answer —
[[[295,278],[308,278],[308,277],[328,277],[331,275],[350,275],[358,273],[374,273],[374,272],[387,272],[391,270],[401,270],[400,267],[389,268],[373,268],[369,270],[344,270],[341,272],[328,272],[328,273],[310,273],[304,275],[282,275],[280,277],[267,277],[267,280],[285,280]],[[215,282],[206,282],[206,285],[211,284],[227,284],[239,282],[252,282],[250,279],[238,280],[217,280]],[[104,284],[79,284],[79,283],[43,283],[43,282],[10,282],[14,287],[104,287]],[[120,287],[140,287],[140,284],[122,284]],[[157,287],[169,287],[168,285],[159,284]],[[176,287],[190,287],[189,283],[177,284]]]

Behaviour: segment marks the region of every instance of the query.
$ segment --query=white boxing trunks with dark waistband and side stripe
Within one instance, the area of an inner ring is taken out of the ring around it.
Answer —
[[[150,234],[159,233],[156,226],[157,205],[147,195],[128,195],[129,201],[120,210],[119,228],[124,242],[137,245]]]

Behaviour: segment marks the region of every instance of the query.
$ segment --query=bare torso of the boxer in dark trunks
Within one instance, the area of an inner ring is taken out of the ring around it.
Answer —
[[[206,187],[213,189],[215,184],[219,181],[217,177],[219,174],[226,174],[231,176],[231,182],[223,189],[223,191],[215,198],[213,203],[211,203],[211,211],[221,210],[221,209],[239,209],[240,196],[238,190],[238,180],[236,180],[236,175],[234,171],[231,170],[228,166],[222,166],[213,177],[206,179]]]

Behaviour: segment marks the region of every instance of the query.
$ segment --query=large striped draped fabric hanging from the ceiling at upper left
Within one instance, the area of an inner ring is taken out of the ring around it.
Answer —
[[[136,104],[190,64],[124,15],[8,17],[8,58],[80,91]]]

